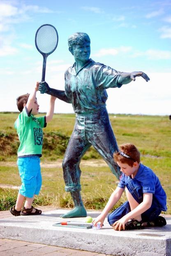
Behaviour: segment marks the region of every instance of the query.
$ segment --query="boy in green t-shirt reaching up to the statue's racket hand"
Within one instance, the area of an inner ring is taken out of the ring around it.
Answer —
[[[35,115],[39,113],[36,99],[38,88],[39,82],[31,94],[24,94],[17,98],[17,107],[21,113],[15,121],[14,128],[17,130],[20,140],[17,165],[22,184],[18,191],[16,205],[10,209],[14,216],[42,213],[41,210],[32,207],[32,202],[35,195],[39,195],[42,186],[39,159],[42,156],[42,128],[46,127],[46,123],[52,120],[56,98],[51,96],[50,107],[46,116],[36,118]]]

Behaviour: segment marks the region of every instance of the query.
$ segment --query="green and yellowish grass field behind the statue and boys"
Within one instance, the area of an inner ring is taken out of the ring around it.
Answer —
[[[20,178],[16,167],[18,146],[16,131],[13,128],[18,113],[0,113],[0,209],[9,209],[16,200]],[[168,214],[171,214],[171,121],[167,116],[109,115],[118,144],[134,143],[141,152],[141,162],[149,166],[159,177],[167,194]],[[44,150],[42,163],[61,163],[69,136],[74,127],[73,114],[55,114],[53,121],[44,129]],[[52,133],[55,132],[55,133]],[[56,142],[57,141],[57,142]],[[12,148],[12,150],[11,150]],[[87,209],[102,209],[117,180],[98,153],[91,148],[81,163],[82,197]],[[97,161],[98,159],[98,161]],[[94,161],[94,162],[93,162]],[[96,161],[96,162],[95,162]],[[96,163],[96,164],[94,164]],[[53,204],[56,207],[72,207],[69,193],[64,191],[62,167],[42,166],[42,190],[36,204]],[[7,188],[4,188],[4,185]],[[125,200],[125,195],[116,205]]]

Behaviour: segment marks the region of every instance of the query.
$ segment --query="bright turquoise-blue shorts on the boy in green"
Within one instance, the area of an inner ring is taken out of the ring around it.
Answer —
[[[17,165],[22,182],[19,193],[30,198],[34,195],[39,195],[42,186],[39,157],[31,156],[18,158]]]

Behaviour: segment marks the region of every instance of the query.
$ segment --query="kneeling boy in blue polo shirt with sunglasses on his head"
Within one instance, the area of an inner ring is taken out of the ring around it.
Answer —
[[[127,201],[108,216],[108,222],[115,230],[166,225],[165,218],[159,216],[161,211],[167,210],[166,193],[155,173],[140,163],[137,148],[133,144],[121,145],[113,157],[122,175],[102,214],[93,221],[94,225],[101,222],[102,227],[106,215],[118,202],[124,190]]]

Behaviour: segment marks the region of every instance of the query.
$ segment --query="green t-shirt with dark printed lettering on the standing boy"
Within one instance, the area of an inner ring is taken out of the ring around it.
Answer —
[[[35,117],[31,115],[31,111],[28,113],[26,107],[23,108],[23,111],[18,115],[14,123],[14,128],[17,130],[20,140],[17,152],[18,157],[28,155],[42,156],[43,127],[46,127],[45,116]]]

